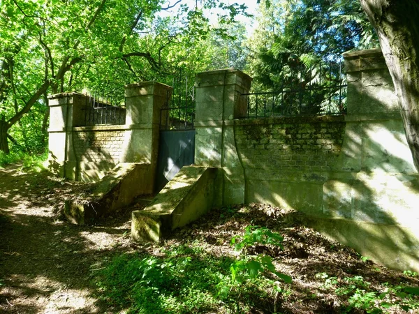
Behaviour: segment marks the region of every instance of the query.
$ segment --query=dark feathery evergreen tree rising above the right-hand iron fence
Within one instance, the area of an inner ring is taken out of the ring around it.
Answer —
[[[374,32],[356,0],[265,0],[259,24],[251,44],[251,73],[268,89],[281,89],[288,84],[284,77],[295,70],[374,45]]]

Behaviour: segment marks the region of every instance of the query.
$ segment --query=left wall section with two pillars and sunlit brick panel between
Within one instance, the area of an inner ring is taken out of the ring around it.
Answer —
[[[98,181],[119,163],[142,163],[149,166],[144,184],[152,193],[160,110],[171,92],[172,87],[157,82],[126,85],[126,119],[119,126],[86,126],[89,96],[49,96],[50,168],[68,179]]]

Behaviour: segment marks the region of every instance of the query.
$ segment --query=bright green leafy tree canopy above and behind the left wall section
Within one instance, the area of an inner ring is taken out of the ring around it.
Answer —
[[[9,151],[8,140],[17,142],[11,131],[24,127],[22,118],[29,112],[45,113],[46,126],[47,94],[85,87],[112,94],[122,91],[123,84],[170,74],[177,68],[173,60],[182,62],[170,47],[182,51],[188,40],[210,31],[198,1],[193,8],[180,2],[1,1],[0,150]],[[226,10],[228,14],[220,16],[222,26],[244,10],[223,1],[200,3]],[[175,17],[156,17],[175,7]]]

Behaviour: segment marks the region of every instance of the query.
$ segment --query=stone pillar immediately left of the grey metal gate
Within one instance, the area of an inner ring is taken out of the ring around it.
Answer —
[[[149,163],[153,192],[159,153],[160,112],[172,95],[172,87],[158,82],[141,82],[125,87],[126,132],[122,163]]]

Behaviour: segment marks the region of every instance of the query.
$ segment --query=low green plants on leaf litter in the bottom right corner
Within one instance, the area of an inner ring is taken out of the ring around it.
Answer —
[[[419,295],[419,287],[385,283],[386,289],[377,291],[362,276],[339,279],[327,273],[318,273],[316,278],[324,279],[323,289],[332,289],[337,295],[348,297],[342,313],[351,313],[353,308],[366,313],[386,313],[389,308],[401,308],[403,311],[419,308],[419,299],[416,297]]]

